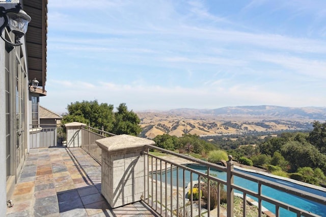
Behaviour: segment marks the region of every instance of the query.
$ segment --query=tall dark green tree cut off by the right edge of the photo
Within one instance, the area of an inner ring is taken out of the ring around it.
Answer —
[[[308,141],[321,153],[326,154],[326,122],[314,121],[312,126],[314,128],[309,133]]]

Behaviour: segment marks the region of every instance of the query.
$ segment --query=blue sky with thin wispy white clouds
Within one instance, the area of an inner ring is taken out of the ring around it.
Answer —
[[[325,39],[324,0],[49,1],[40,101],[326,106]]]

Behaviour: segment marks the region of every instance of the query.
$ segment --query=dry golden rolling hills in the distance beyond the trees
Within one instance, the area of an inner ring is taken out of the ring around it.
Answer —
[[[184,133],[209,135],[222,133],[239,133],[246,131],[273,131],[297,129],[297,121],[265,121],[254,117],[189,117],[188,114],[168,114],[143,112],[137,113],[141,118],[143,136],[155,138],[156,135],[169,133],[181,137]],[[235,120],[233,120],[235,119]]]

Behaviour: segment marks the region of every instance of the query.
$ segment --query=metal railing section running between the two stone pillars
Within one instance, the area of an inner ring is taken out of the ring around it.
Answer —
[[[116,134],[83,125],[82,128],[82,144],[81,147],[91,155],[99,164],[101,164],[101,148],[96,145],[95,141],[107,137],[112,137]]]

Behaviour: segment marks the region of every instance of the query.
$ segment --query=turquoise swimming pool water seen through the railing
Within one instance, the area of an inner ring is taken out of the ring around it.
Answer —
[[[186,165],[189,168],[192,168],[196,171],[205,173],[206,172],[206,168],[203,166],[198,166],[198,165]],[[242,171],[244,173],[256,176],[256,177],[260,177],[263,179],[267,179],[269,181],[274,181],[283,185],[287,185],[296,189],[301,189],[302,191],[306,191],[312,194],[316,194],[316,195],[320,195],[322,197],[326,197],[326,192],[323,191],[319,191],[318,189],[314,189],[314,188],[310,188],[310,187],[306,187],[303,185],[299,185],[293,182],[289,182],[289,181],[285,181],[285,180],[281,180],[281,179],[277,179],[277,178],[273,178],[273,177],[269,177],[269,176],[265,176],[262,174],[257,174],[257,173],[252,173],[252,172],[247,172],[247,171]],[[179,169],[178,171],[178,175],[179,175],[179,186],[182,187],[183,186],[183,170]],[[222,180],[226,180],[226,173],[225,172],[221,172],[221,171],[216,171],[216,170],[210,170],[210,174],[215,174],[219,179]],[[155,174],[153,174],[153,178],[155,179],[156,176]],[[191,180],[190,180],[190,172],[189,171],[185,171],[185,177],[184,177],[184,182],[185,185],[187,185]],[[157,180],[160,180],[160,175],[157,174]],[[166,177],[165,174],[162,174],[162,182],[165,182]],[[198,175],[193,173],[193,181],[198,180]],[[171,182],[171,171],[167,172],[167,183],[170,184]],[[240,177],[235,176],[234,177],[234,183],[236,185],[239,185],[241,187],[245,187],[247,189],[250,189],[251,191],[257,192],[258,191],[258,184],[256,182],[247,180],[247,179],[243,179]],[[172,184],[176,185],[177,184],[177,170],[173,170],[172,171]],[[225,186],[226,187],[226,186]],[[309,200],[305,200],[299,197],[296,197],[294,195],[285,193],[285,192],[281,192],[277,189],[262,185],[261,188],[262,194],[265,196],[268,196],[270,198],[274,198],[276,200],[282,201],[284,203],[293,205],[295,207],[310,211],[312,213],[321,215],[321,216],[326,216],[326,204],[318,204]],[[235,191],[237,192],[237,191]],[[237,193],[241,193],[241,192],[237,192]],[[242,194],[242,193],[241,193]],[[257,198],[249,196],[252,199],[257,200]],[[267,208],[268,210],[270,210],[271,212],[275,212],[275,205],[270,204],[268,202],[263,201],[262,205]],[[280,215],[281,216],[296,216],[295,213],[290,212],[288,210],[285,210],[283,208],[280,208]]]

